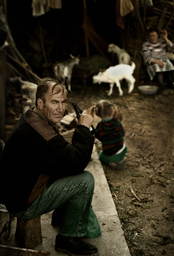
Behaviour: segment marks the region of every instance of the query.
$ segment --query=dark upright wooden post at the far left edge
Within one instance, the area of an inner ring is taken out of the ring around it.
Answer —
[[[5,142],[5,52],[0,48],[0,138]]]

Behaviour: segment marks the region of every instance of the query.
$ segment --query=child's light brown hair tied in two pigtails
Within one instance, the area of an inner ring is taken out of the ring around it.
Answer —
[[[108,100],[100,100],[95,106],[91,107],[90,113],[92,117],[96,115],[100,118],[103,118],[103,116],[113,116],[113,118],[116,118],[118,115],[118,108]]]

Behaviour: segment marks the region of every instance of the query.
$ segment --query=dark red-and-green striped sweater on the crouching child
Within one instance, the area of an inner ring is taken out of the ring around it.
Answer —
[[[116,154],[124,144],[125,131],[116,118],[105,118],[98,123],[95,137],[102,142],[102,150],[106,156]]]

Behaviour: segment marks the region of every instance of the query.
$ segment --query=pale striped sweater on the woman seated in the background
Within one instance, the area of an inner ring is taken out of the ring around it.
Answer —
[[[144,63],[150,65],[152,59],[168,59],[167,52],[174,52],[174,44],[171,41],[166,44],[162,39],[158,39],[156,44],[147,41],[143,44],[142,50]]]

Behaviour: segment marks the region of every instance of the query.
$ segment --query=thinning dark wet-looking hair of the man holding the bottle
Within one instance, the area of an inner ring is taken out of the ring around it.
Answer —
[[[53,88],[52,88],[52,93],[54,88],[59,85],[60,86],[60,92],[62,91],[62,93],[66,93],[68,94],[66,88],[64,85],[60,84],[56,79],[50,78],[50,77],[46,77],[46,78],[42,78],[37,86],[37,91],[36,91],[36,100],[35,100],[35,105],[37,106],[37,100],[41,99],[43,101],[43,104],[45,105],[46,103],[46,97],[48,95],[48,91],[49,91],[49,85],[50,84],[54,84]],[[58,92],[59,93],[59,92]]]

